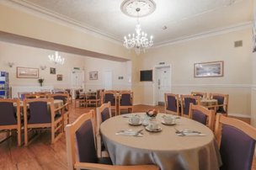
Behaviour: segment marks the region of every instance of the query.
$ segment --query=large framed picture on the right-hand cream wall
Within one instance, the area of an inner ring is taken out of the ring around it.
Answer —
[[[194,64],[194,77],[223,77],[224,61]]]

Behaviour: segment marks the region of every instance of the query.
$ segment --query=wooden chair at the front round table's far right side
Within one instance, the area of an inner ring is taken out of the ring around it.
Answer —
[[[206,109],[204,106],[190,104],[189,118],[196,120],[201,124],[208,126],[214,130],[215,112],[212,109]]]

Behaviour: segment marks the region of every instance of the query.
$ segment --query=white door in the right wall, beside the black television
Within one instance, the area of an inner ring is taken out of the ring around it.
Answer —
[[[164,93],[168,93],[171,87],[170,66],[157,68],[157,104],[164,104]]]

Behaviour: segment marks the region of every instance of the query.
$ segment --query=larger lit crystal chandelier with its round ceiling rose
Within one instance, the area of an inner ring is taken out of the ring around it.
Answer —
[[[155,8],[156,5],[152,0],[125,0],[125,2],[121,4],[123,13],[137,18],[136,33],[124,37],[124,46],[127,49],[135,48],[136,54],[140,54],[141,50],[145,52],[147,48],[153,45],[153,36],[147,37],[147,33],[141,31],[139,17],[147,16],[152,13]]]

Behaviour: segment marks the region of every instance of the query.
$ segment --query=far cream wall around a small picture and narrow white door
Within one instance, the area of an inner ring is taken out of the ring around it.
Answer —
[[[89,72],[98,72],[98,80],[89,80]],[[104,88],[104,72],[112,72],[112,89],[131,90],[131,61],[118,62],[86,57],[86,90]],[[123,77],[123,79],[118,79]]]

